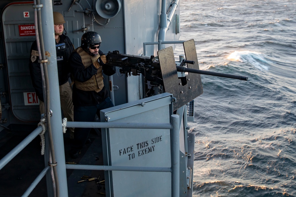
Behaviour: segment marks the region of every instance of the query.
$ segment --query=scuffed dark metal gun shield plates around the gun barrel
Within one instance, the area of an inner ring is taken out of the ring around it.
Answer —
[[[188,68],[199,69],[194,40],[185,41],[183,45],[186,59],[195,62],[195,64],[187,64]],[[174,111],[203,93],[200,74],[189,73],[185,76],[186,84],[182,83],[184,79],[178,79],[172,47],[159,50],[157,55],[165,92],[169,92],[176,97],[176,103],[173,106]]]

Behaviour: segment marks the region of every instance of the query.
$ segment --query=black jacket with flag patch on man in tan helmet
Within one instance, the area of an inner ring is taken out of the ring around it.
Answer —
[[[65,84],[70,77],[70,69],[67,64],[67,61],[70,57],[70,54],[74,51],[74,47],[68,36],[62,34],[59,36],[59,38],[60,38],[59,43],[56,43],[57,70],[58,70],[58,77],[59,77],[59,85],[62,85],[62,84]],[[38,48],[35,40],[30,50],[29,69],[30,69],[32,84],[36,91],[36,94],[39,100],[44,102],[41,69],[40,69],[40,64],[38,63],[38,60],[39,60]]]

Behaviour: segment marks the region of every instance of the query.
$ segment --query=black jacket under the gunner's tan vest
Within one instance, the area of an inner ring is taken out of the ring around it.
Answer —
[[[102,51],[99,50],[99,54],[102,55]],[[92,56],[89,55],[89,58]],[[73,85],[73,105],[78,106],[90,106],[96,105],[102,101],[104,101],[107,97],[109,97],[109,91],[106,87],[100,92],[96,91],[84,91],[75,87],[75,80],[79,82],[86,82],[89,80],[93,75],[95,75],[98,69],[91,64],[89,67],[85,68],[82,64],[81,56],[77,52],[73,52],[69,58],[69,64],[71,69],[71,74],[74,79]],[[103,66],[103,73],[111,76],[115,74],[116,68],[115,66],[109,66],[107,64],[103,64],[100,60],[100,65]]]

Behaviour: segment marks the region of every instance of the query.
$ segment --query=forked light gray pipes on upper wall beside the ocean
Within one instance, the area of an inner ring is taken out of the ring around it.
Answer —
[[[166,0],[161,1],[161,14],[160,14],[160,30],[158,32],[158,40],[165,41],[165,34],[168,31],[168,27],[171,24],[171,20],[174,16],[174,13],[178,7],[179,0],[173,1],[172,6],[169,11],[169,15],[166,14]],[[158,45],[158,50],[162,49]]]

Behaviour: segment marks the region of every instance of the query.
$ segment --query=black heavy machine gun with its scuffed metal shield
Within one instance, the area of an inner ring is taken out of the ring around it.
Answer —
[[[120,67],[119,72],[126,77],[143,74],[147,97],[162,92],[172,93],[176,97],[174,110],[203,93],[200,74],[248,80],[246,76],[200,70],[194,40],[188,40],[183,45],[187,60],[183,59],[180,64],[176,64],[172,47],[161,49],[157,52],[157,57],[150,56],[150,58],[110,51],[107,54],[107,64]],[[177,71],[182,74],[178,75]],[[148,86],[152,86],[154,91],[150,91],[152,88]],[[155,91],[155,87],[159,89],[158,92]],[[148,94],[149,91],[152,93]]]

